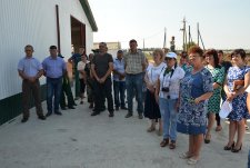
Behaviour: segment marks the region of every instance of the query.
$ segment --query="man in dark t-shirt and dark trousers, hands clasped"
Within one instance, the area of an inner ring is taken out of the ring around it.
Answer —
[[[111,72],[113,70],[113,58],[107,53],[107,43],[99,43],[99,53],[96,53],[91,63],[93,75],[94,109],[91,116],[97,116],[104,111],[104,100],[108,100],[109,117],[113,117],[113,98]]]

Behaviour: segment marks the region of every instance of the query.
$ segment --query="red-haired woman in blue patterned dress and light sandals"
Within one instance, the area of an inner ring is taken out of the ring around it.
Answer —
[[[207,102],[212,96],[212,75],[204,68],[202,49],[189,49],[192,69],[186,72],[180,83],[180,107],[177,131],[189,135],[189,150],[180,155],[194,165],[200,158],[200,149],[206,134]]]

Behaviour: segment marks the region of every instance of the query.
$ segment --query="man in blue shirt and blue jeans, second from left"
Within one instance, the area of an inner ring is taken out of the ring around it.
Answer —
[[[44,76],[47,77],[48,112],[46,116],[49,117],[52,115],[52,109],[56,115],[62,115],[59,111],[59,101],[62,87],[62,76],[66,73],[66,62],[62,58],[58,57],[58,50],[56,46],[50,47],[50,56],[43,60],[42,67],[44,70]]]

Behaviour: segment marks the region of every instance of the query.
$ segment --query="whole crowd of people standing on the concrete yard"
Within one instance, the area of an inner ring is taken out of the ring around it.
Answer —
[[[62,110],[67,106],[74,109],[76,100],[80,98],[82,105],[86,96],[92,109],[91,116],[106,111],[108,105],[109,117],[114,117],[114,111],[122,109],[128,111],[124,117],[130,118],[136,98],[138,118],[150,119],[147,131],[157,130],[162,136],[160,147],[174,149],[177,132],[189,136],[188,151],[180,158],[194,165],[200,159],[202,144],[211,142],[214,122],[216,131],[222,129],[219,112],[221,103],[227,101],[232,105],[232,110],[227,117],[229,138],[223,149],[232,152],[241,150],[246,121],[250,117],[250,66],[243,49],[230,53],[229,61],[224,60],[221,50],[203,51],[197,46],[180,56],[156,49],[153,62],[149,63],[134,39],[129,41],[129,47],[128,52],[118,50],[116,59],[108,53],[106,42],[99,43],[99,52],[89,56],[80,47],[79,53],[68,60],[74,71],[73,99],[67,66],[57,47],[51,46],[50,56],[40,63],[32,57],[33,47],[26,46],[26,57],[18,65],[22,78],[22,122],[29,119],[31,93],[41,120],[52,112],[62,115],[59,105]],[[42,75],[47,79],[46,115],[40,98],[39,78]]]

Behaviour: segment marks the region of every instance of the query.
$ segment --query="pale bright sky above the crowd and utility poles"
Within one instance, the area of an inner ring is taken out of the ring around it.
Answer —
[[[182,20],[197,42],[197,22],[206,48],[250,49],[250,0],[89,0],[98,26],[94,42],[136,39],[140,48],[167,47],[172,36],[182,47]]]

